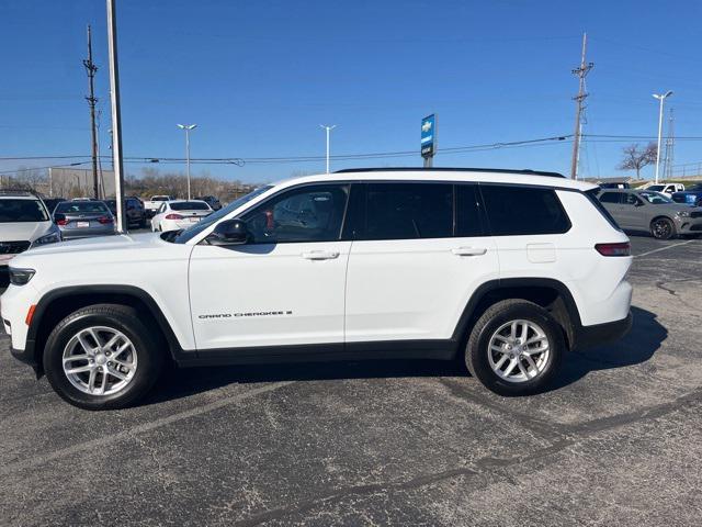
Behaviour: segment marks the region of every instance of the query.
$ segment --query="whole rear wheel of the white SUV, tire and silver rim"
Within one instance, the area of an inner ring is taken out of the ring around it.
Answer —
[[[488,390],[529,395],[553,380],[565,348],[563,330],[546,310],[525,300],[503,300],[476,322],[465,361]]]

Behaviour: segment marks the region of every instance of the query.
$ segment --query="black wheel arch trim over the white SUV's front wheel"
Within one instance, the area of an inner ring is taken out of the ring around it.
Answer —
[[[92,304],[114,303],[137,309],[148,322],[156,324],[176,359],[183,349],[154,298],[135,285],[76,285],[58,288],[41,298],[27,329],[25,349],[35,359],[37,377],[43,374],[42,357],[52,329],[70,313]]]

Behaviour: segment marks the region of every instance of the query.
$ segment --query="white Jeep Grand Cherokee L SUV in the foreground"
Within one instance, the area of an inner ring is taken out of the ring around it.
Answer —
[[[629,238],[559,175],[346,170],[262,187],[181,232],[32,249],[11,266],[12,352],[83,408],[178,366],[465,359],[543,390],[568,349],[631,327]]]

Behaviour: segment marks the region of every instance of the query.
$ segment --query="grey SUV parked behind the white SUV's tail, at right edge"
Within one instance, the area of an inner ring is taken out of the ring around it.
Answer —
[[[658,239],[702,233],[702,209],[673,202],[668,194],[650,190],[604,190],[602,205],[629,231],[650,233]]]

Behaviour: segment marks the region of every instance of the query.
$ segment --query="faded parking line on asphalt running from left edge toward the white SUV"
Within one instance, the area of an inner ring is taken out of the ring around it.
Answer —
[[[247,399],[251,399],[256,395],[260,395],[262,393],[272,392],[278,390],[279,388],[286,386],[287,384],[292,384],[295,381],[281,381],[274,384],[269,384],[261,388],[254,388],[253,390],[231,395],[229,397],[222,399],[219,401],[214,401],[210,404],[205,404],[204,406],[199,406],[196,408],[186,410],[184,412],[180,412],[178,414],[169,415],[168,417],[161,417],[160,419],[156,419],[149,423],[145,423],[143,425],[135,426],[127,430],[120,431],[114,435],[99,437],[98,439],[92,439],[89,441],[84,441],[78,445],[73,445],[68,448],[64,448],[61,450],[56,450],[54,452],[41,455],[41,456],[32,456],[30,459],[25,459],[22,461],[16,461],[14,463],[5,464],[4,467],[0,467],[0,476],[4,476],[11,474],[13,472],[19,472],[21,470],[31,469],[37,466],[42,466],[48,463],[50,461],[55,461],[60,458],[65,458],[67,456],[72,456],[79,452],[87,452],[95,449],[97,447],[101,447],[104,445],[112,445],[116,441],[121,441],[124,439],[128,439],[138,434],[144,434],[146,431],[154,430],[156,428],[160,428],[166,425],[170,425],[171,423],[177,423],[179,421],[188,419],[190,417],[195,417],[197,415],[206,414],[207,412],[212,412],[214,410],[222,408],[233,403],[238,403],[240,401],[245,401]]]

